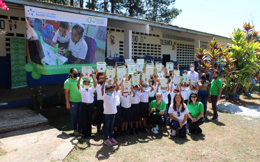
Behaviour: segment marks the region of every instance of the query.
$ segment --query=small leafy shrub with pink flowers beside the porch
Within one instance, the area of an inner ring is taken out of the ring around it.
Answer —
[[[31,91],[32,91],[31,97],[34,100],[33,110],[41,110],[43,100],[46,97],[44,94],[45,90],[42,88],[42,86],[38,86],[36,88],[31,88]]]

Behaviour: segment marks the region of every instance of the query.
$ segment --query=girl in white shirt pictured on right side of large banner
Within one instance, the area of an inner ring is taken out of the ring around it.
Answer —
[[[83,39],[85,27],[82,24],[75,24],[72,27],[71,38],[69,41],[69,51],[66,53],[68,62],[66,64],[80,64],[81,60],[86,59],[88,46]]]

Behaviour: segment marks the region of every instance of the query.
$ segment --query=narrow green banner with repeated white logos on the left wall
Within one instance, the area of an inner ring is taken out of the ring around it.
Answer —
[[[13,88],[27,87],[25,65],[25,39],[11,38],[11,86]]]

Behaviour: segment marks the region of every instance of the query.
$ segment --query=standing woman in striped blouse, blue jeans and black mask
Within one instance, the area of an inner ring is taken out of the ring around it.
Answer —
[[[206,110],[207,110],[207,102],[210,97],[210,83],[205,79],[206,79],[206,74],[202,73],[201,79],[197,81],[197,84],[199,87],[199,91],[198,91],[199,101],[203,103],[203,107],[204,107],[203,115],[204,118],[207,118]]]

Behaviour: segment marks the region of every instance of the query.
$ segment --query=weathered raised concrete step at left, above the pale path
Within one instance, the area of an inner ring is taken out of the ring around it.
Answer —
[[[0,109],[0,133],[45,124],[48,120],[28,107]]]

